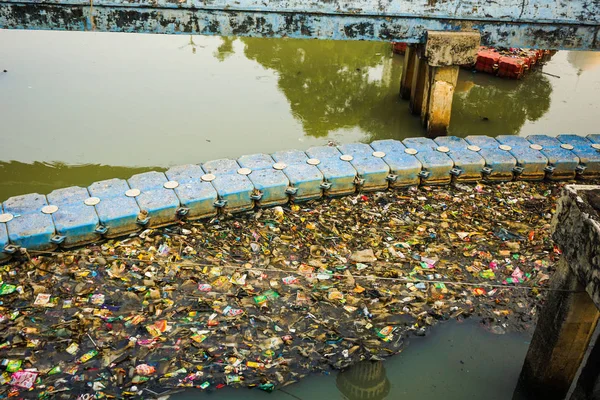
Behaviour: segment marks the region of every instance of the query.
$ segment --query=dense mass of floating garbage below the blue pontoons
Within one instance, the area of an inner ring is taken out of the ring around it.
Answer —
[[[24,252],[0,285],[0,395],[270,392],[437,321],[531,329],[561,184],[410,188]]]

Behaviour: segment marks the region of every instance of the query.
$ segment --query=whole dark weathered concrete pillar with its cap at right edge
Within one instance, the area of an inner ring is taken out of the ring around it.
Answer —
[[[549,292],[540,312],[517,392],[533,398],[564,399],[588,353],[600,316],[598,210],[600,186],[564,188],[552,221],[552,238],[562,251],[551,281],[555,291]],[[600,358],[597,344],[589,352],[586,368],[580,374],[580,390],[575,390],[573,396],[585,396],[594,388]]]

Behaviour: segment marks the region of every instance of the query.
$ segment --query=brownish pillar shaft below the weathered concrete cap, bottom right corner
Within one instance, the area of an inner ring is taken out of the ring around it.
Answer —
[[[588,348],[600,313],[564,258],[548,294],[523,364],[517,391],[563,400]]]

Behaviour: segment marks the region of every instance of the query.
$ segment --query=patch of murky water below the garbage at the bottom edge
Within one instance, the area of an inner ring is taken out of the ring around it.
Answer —
[[[529,346],[529,335],[495,335],[474,320],[435,326],[412,338],[398,356],[341,373],[314,375],[266,394],[256,390],[190,390],[178,400],[510,400]]]

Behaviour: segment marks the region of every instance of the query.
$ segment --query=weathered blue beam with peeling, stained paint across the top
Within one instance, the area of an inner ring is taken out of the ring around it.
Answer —
[[[0,28],[423,42],[600,50],[596,0],[0,0]]]

